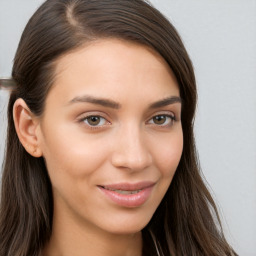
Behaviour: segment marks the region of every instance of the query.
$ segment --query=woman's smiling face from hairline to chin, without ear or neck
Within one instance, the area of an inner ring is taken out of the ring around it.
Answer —
[[[182,154],[179,96],[144,46],[100,40],[59,59],[38,129],[54,218],[119,234],[145,227]]]

